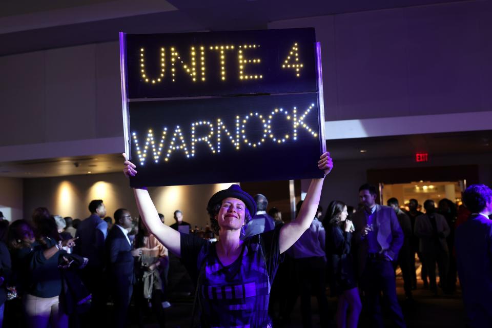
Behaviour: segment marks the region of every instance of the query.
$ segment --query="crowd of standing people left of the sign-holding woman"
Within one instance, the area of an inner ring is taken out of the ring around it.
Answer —
[[[108,301],[108,325],[122,327],[131,299],[139,326],[152,312],[165,326],[167,249],[126,209],[113,221],[92,200],[89,212],[73,220],[37,208],[0,221],[0,327],[101,326]]]

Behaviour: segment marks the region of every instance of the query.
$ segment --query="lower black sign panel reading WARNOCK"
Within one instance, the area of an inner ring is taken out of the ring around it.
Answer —
[[[131,102],[131,186],[321,177],[317,97]]]

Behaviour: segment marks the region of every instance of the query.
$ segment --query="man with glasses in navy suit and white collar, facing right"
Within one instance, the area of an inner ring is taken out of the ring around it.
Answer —
[[[132,228],[130,212],[125,209],[116,210],[114,221],[106,239],[106,273],[114,304],[113,324],[115,327],[124,327],[135,282],[133,257],[141,255],[141,249],[132,251],[128,238],[127,229]]]

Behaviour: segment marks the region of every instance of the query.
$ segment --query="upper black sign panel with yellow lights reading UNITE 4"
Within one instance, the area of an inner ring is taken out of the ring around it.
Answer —
[[[314,29],[126,35],[128,97],[316,92]]]

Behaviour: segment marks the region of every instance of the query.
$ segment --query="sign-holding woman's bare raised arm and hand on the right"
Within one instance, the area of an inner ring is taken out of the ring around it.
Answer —
[[[318,168],[324,171],[326,176],[333,169],[333,161],[330,157],[330,153],[326,152],[321,155],[318,161]],[[318,210],[319,198],[321,196],[321,189],[323,188],[323,178],[311,180],[308,193],[302,203],[301,209],[295,220],[285,224],[280,229],[279,247],[280,254],[288,250],[299,239],[304,231],[308,230],[316,216]]]

